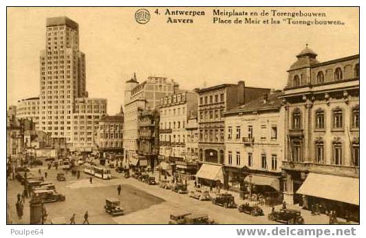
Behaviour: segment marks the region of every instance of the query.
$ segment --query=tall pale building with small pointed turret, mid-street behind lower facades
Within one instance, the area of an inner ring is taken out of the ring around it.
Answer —
[[[179,86],[164,77],[149,76],[138,83],[136,74],[125,83],[125,126],[123,130],[123,149],[126,164],[138,158],[138,116],[145,109],[153,110],[160,104],[160,98],[174,94]]]

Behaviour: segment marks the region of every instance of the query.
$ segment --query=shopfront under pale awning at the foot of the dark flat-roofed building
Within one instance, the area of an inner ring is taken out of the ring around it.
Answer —
[[[213,164],[202,164],[195,175],[197,182],[205,186],[217,186],[224,183],[222,166]]]

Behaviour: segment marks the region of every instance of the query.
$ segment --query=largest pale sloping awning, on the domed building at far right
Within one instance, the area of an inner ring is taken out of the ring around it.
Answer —
[[[360,204],[359,180],[356,177],[309,173],[296,193],[357,206]]]

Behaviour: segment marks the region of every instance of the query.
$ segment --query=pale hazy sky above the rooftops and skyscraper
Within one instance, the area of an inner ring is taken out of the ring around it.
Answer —
[[[151,19],[139,24],[134,18],[138,8],[8,8],[7,107],[39,96],[39,52],[45,50],[47,17],[66,16],[79,24],[89,97],[107,98],[110,115],[120,110],[124,82],[133,72],[139,82],[166,76],[182,89],[238,80],[249,87],[283,89],[286,70],[306,43],[321,62],[359,53],[358,8],[275,8],[325,12],[325,19],[345,22],[337,26],[213,24],[213,8],[184,8],[206,15],[193,17],[192,24],[173,24],[166,23],[166,8],[158,8],[160,15],[155,9],[147,8]],[[169,8],[177,9],[182,10]],[[235,10],[261,9],[274,8]]]

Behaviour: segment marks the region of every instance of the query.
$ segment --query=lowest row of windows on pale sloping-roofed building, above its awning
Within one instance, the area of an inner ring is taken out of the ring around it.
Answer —
[[[253,166],[253,154],[252,153],[248,153],[247,155],[247,162],[246,164],[242,164],[241,163],[241,155],[239,151],[236,151],[235,155],[235,160],[233,161],[233,151],[228,151],[228,164],[229,165],[237,165],[237,166],[241,166],[241,165],[245,165],[248,167],[252,167]],[[235,163],[234,163],[235,162]],[[277,170],[277,155],[276,154],[272,154],[271,155],[271,170]],[[267,162],[267,155],[266,153],[261,153],[261,169],[265,169],[268,170],[268,162]]]

